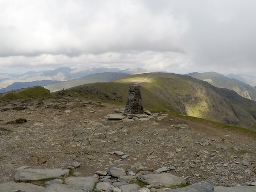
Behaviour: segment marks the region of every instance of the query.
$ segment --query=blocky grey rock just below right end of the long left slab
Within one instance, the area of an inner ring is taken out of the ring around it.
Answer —
[[[66,184],[71,185],[74,188],[92,191],[94,184],[98,182],[98,179],[95,177],[68,177],[65,179]]]

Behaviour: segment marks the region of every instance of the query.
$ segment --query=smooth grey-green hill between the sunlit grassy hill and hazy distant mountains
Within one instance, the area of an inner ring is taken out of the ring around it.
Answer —
[[[78,79],[72,79],[72,80],[61,82],[61,83],[48,85],[48,86],[45,86],[45,89],[48,89],[51,92],[55,92],[58,90],[68,89],[70,87],[75,87],[75,86],[79,86],[87,83],[109,82],[115,79],[126,77],[128,75],[129,74],[126,74],[126,73],[111,73],[111,72],[96,73],[96,74],[87,75],[85,77],[81,77]]]

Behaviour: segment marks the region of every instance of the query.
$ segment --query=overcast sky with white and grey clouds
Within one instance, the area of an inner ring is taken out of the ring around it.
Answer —
[[[145,68],[256,76],[256,0],[0,0],[0,73]]]

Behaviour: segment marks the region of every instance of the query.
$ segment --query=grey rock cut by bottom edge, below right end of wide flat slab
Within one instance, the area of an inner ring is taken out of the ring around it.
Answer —
[[[213,185],[203,181],[183,188],[173,189],[171,192],[215,192]],[[222,191],[225,192],[225,191]]]

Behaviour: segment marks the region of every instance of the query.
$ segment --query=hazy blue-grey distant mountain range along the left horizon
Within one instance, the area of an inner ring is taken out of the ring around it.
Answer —
[[[104,72],[117,72],[117,73],[126,73],[129,75],[147,73],[146,69],[142,68],[127,68],[124,70],[118,68],[75,68],[71,69],[68,67],[60,67],[52,71],[40,71],[40,72],[26,72],[26,73],[0,73],[0,88],[2,88],[1,92],[4,92],[4,88],[8,90],[14,90],[19,88],[26,88],[27,86],[46,86],[50,84],[57,83],[56,81],[68,81],[71,79],[78,79],[81,77],[85,77],[90,74],[95,73],[104,73]],[[47,80],[47,83],[46,81]],[[41,82],[43,81],[43,82]],[[16,83],[19,82],[19,83]],[[30,82],[30,83],[27,83]],[[32,83],[33,82],[33,83]],[[96,81],[97,82],[97,81]],[[15,83],[15,84],[13,84]],[[24,83],[24,84],[23,84]],[[44,84],[45,83],[45,84]],[[13,84],[13,85],[12,85]]]

